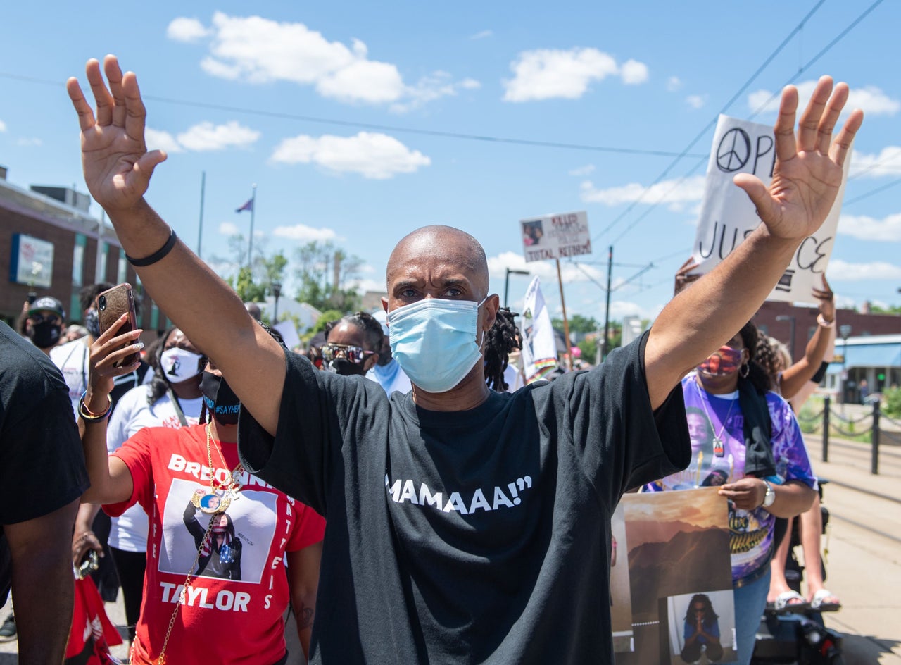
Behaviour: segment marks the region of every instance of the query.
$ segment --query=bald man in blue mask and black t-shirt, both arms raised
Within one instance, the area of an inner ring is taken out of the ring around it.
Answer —
[[[760,227],[596,369],[490,391],[485,252],[451,227],[406,235],[383,304],[413,390],[389,398],[286,353],[177,240],[144,200],[166,155],[146,149],[137,79],[112,56],[103,69],[87,63],[96,109],[68,82],[87,187],[150,295],[240,397],[246,468],[327,518],[312,662],[612,661],[610,515],[625,490],[687,465],[679,380],[824,222],[862,122],[851,113],[833,140],[848,87],[822,78],[797,127],[786,88],[770,186],[735,178]]]

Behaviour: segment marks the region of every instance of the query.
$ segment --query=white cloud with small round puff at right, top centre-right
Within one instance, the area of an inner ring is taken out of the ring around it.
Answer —
[[[623,83],[643,83],[648,68],[637,60],[627,60],[623,66],[597,49],[523,51],[510,63],[512,80],[504,81],[505,102],[529,102],[562,97],[578,99],[592,81],[619,76]]]

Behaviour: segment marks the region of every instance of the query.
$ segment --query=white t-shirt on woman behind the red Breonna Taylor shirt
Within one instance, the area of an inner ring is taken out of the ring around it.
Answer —
[[[106,428],[107,452],[121,448],[124,442],[144,427],[181,427],[175,405],[168,394],[161,396],[152,405],[147,403],[149,395],[149,386],[138,386],[119,400]],[[203,403],[203,397],[178,400],[187,424],[197,424]],[[141,506],[135,504],[119,517],[113,517],[112,523],[108,540],[110,547],[124,551],[147,551],[149,522]]]

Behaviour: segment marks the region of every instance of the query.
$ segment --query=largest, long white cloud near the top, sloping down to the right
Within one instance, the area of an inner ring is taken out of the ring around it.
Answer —
[[[186,34],[206,30],[193,19],[176,19]],[[279,23],[260,16],[213,15],[209,52],[200,67],[210,76],[252,84],[288,81],[313,86],[322,96],[341,102],[394,104],[408,110],[460,88],[478,87],[472,79],[453,83],[441,72],[418,83],[404,82],[396,65],[369,58],[367,45],[329,41],[304,23]],[[205,33],[206,34],[206,33]],[[435,78],[441,80],[436,83]]]

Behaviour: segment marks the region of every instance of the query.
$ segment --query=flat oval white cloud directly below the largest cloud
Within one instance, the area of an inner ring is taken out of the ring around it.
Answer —
[[[301,134],[281,141],[270,158],[284,164],[317,164],[336,173],[359,173],[364,178],[386,179],[429,166],[419,150],[410,150],[394,137],[359,132],[355,136],[319,138]]]

